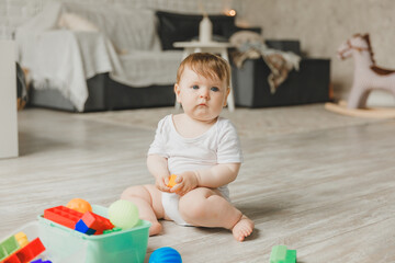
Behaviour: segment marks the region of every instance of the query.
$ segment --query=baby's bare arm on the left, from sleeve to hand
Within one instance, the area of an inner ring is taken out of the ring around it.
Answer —
[[[170,192],[170,187],[167,186],[170,176],[167,158],[158,155],[149,155],[147,158],[147,167],[148,171],[155,178],[156,186],[160,191]]]

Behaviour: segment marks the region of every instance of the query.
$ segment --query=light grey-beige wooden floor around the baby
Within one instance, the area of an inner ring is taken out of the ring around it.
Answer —
[[[279,108],[271,122],[284,122],[286,111],[297,118],[295,107]],[[328,116],[321,111],[308,122]],[[266,110],[244,113],[268,118]],[[226,230],[165,222],[146,261],[169,245],[187,263],[269,262],[271,248],[286,244],[304,263],[395,262],[395,121],[345,122],[307,130],[294,122],[297,133],[269,135],[262,126],[262,136],[242,136],[245,163],[230,192],[256,222],[252,237],[239,243]],[[145,158],[155,127],[26,110],[19,129],[21,157],[0,160],[0,238],[74,197],[108,206],[127,185],[153,182]]]

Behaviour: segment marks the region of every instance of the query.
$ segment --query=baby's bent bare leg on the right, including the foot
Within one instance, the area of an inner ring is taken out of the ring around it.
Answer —
[[[244,241],[253,229],[252,220],[211,188],[199,187],[182,196],[179,210],[187,222],[230,229],[238,241]]]

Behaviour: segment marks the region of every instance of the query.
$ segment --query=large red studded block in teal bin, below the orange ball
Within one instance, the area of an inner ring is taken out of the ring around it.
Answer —
[[[81,219],[82,215],[82,213],[66,206],[56,206],[44,210],[44,218],[71,229],[75,229],[77,221]]]

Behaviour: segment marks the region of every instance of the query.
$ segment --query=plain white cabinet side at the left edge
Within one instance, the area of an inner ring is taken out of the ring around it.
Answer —
[[[15,43],[0,41],[0,158],[18,157]]]

